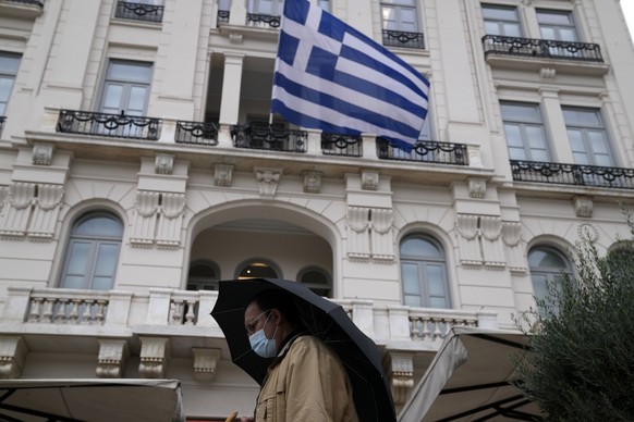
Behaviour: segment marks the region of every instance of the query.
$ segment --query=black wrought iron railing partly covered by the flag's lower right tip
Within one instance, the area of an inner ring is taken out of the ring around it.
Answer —
[[[416,161],[439,164],[468,165],[466,145],[418,140],[406,152],[393,147],[383,138],[377,138],[377,156],[381,160]]]

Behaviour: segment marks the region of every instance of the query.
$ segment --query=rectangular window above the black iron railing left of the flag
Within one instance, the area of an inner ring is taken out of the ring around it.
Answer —
[[[144,115],[149,98],[151,69],[151,63],[110,61],[99,111]]]

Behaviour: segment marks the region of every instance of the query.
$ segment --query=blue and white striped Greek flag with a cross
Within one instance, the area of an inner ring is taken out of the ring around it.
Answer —
[[[284,3],[271,113],[325,133],[374,134],[410,151],[427,115],[429,82],[308,1]]]

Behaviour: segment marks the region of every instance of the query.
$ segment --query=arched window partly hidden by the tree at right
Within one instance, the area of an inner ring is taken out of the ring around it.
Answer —
[[[544,299],[548,295],[547,281],[558,283],[563,277],[562,271],[570,273],[569,260],[563,253],[548,246],[536,246],[528,251],[528,266],[535,298]]]

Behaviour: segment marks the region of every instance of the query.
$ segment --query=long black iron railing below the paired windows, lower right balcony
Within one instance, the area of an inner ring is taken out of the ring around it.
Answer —
[[[513,181],[634,189],[634,169],[511,160]]]

